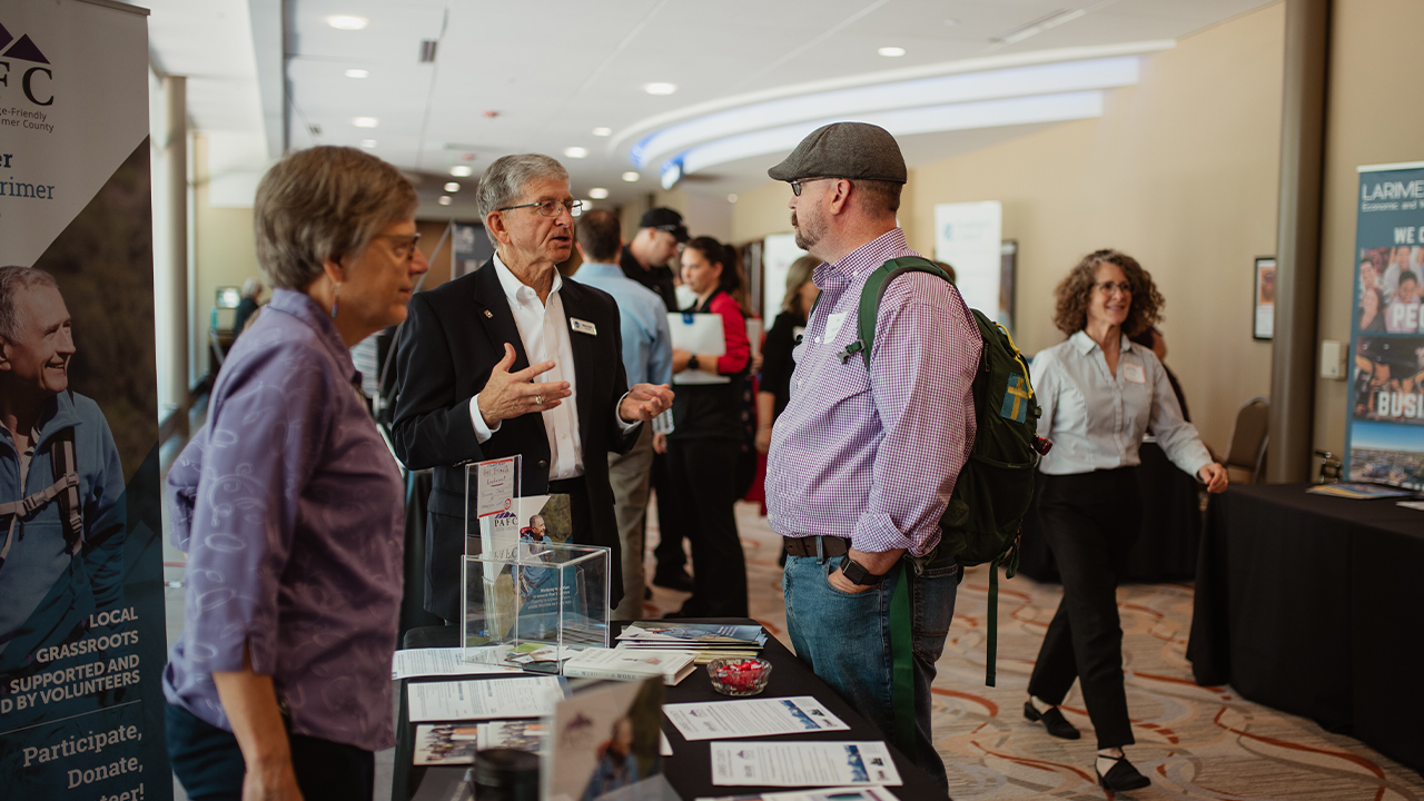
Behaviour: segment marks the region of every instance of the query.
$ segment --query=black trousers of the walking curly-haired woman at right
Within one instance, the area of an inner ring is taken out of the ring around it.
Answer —
[[[1061,704],[1077,678],[1098,748],[1135,743],[1122,684],[1118,577],[1142,526],[1134,467],[1044,476],[1038,513],[1064,600],[1038,650],[1028,693]]]

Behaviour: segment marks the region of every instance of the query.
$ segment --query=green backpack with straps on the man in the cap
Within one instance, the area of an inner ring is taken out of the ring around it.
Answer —
[[[870,369],[880,299],[890,282],[906,272],[928,272],[954,284],[938,265],[920,257],[903,257],[880,265],[860,292],[860,339],[842,352],[842,359],[860,353],[866,369]],[[1018,572],[1018,532],[1034,496],[1034,467],[1052,445],[1038,436],[1041,410],[1028,383],[1028,365],[1012,338],[983,312],[971,309],[971,314],[984,341],[974,376],[978,425],[968,462],[960,470],[950,505],[940,517],[940,544],[926,554],[926,562],[953,556],[960,567],[993,564],[984,674],[984,683],[993,687],[998,651],[998,566],[1005,567],[1007,579]],[[909,596],[901,607],[907,619]],[[891,627],[894,617],[896,601],[891,600]]]

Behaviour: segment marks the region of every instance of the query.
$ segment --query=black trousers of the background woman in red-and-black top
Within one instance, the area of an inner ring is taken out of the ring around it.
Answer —
[[[735,439],[669,439],[669,520],[664,536],[692,542],[691,617],[746,617],[746,557],[736,532]]]

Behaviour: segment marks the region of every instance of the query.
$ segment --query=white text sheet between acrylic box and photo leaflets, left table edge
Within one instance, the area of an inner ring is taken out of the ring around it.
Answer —
[[[410,721],[494,720],[550,714],[562,697],[554,676],[478,681],[427,681],[407,686]]]

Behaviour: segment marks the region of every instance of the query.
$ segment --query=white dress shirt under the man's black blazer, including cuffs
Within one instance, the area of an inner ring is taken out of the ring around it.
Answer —
[[[500,278],[500,288],[514,312],[514,325],[520,329],[520,341],[524,343],[524,353],[530,365],[553,361],[554,369],[534,378],[535,382],[567,381],[572,393],[564,398],[558,406],[543,412],[544,433],[548,435],[548,480],[558,482],[584,475],[584,443],[578,436],[578,381],[574,369],[574,345],[568,335],[568,318],[564,315],[564,301],[558,291],[564,286],[564,278],[555,271],[554,286],[548,292],[548,299],[540,302],[538,292],[527,286],[510,272],[508,267],[500,261],[496,252],[493,265],[494,274]],[[638,425],[625,422],[618,416],[618,405],[614,406],[614,418],[624,430]],[[484,425],[484,415],[480,413],[480,396],[470,399],[470,422],[474,423],[474,435],[483,443],[500,426],[493,429]]]

